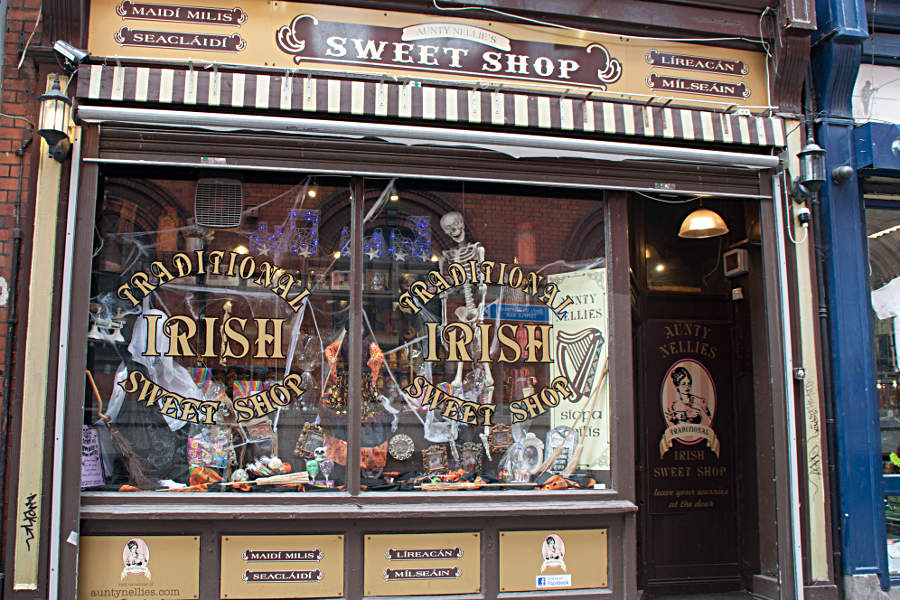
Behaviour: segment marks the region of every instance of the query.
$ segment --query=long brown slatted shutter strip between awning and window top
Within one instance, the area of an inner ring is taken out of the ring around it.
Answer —
[[[209,167],[215,149],[219,166],[291,171],[394,174],[510,182],[571,184],[597,188],[681,190],[711,195],[756,196],[753,169],[664,163],[651,160],[514,159],[497,152],[461,148],[406,147],[369,140],[317,139],[243,133],[221,135],[177,130],[105,126],[103,159],[159,161]],[[175,153],[177,149],[177,154]],[[453,165],[452,173],[448,165]],[[149,166],[149,165],[148,165]]]

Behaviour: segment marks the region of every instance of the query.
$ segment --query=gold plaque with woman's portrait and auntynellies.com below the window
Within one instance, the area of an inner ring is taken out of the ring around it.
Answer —
[[[79,600],[200,597],[197,536],[82,536],[78,545]]]

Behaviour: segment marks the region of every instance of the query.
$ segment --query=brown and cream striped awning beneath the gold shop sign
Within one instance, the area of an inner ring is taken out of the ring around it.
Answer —
[[[355,115],[371,119],[515,126],[746,146],[784,146],[784,121],[502,89],[201,68],[82,65],[81,100]]]

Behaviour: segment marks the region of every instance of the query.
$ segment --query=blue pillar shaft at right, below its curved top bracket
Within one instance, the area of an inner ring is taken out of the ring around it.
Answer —
[[[826,120],[817,126],[826,152],[826,173],[853,165],[853,126]],[[854,165],[855,166],[855,165]],[[854,175],[843,185],[829,181],[820,193],[825,287],[837,448],[841,555],[845,575],[878,574],[887,587],[884,501],[881,492],[881,431],[872,356],[869,263],[862,195]]]

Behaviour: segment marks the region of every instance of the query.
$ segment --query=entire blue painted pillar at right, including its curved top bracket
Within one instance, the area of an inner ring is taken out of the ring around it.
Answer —
[[[854,168],[851,95],[862,41],[868,37],[864,0],[818,0],[819,31],[812,52],[819,117],[816,141],[826,173]],[[842,185],[829,180],[820,192],[829,310],[828,334],[841,515],[844,575],[877,574],[887,588],[887,551],[881,486],[881,432],[872,356],[872,319],[864,203],[856,175]]]

